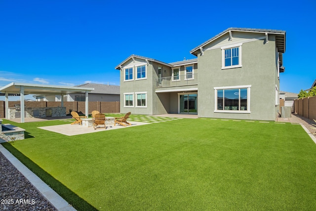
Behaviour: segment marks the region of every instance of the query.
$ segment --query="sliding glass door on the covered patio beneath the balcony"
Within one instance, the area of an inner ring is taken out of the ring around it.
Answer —
[[[197,114],[197,93],[179,94],[179,114]]]

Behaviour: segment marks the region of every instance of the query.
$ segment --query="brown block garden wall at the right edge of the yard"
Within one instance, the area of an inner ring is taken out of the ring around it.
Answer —
[[[294,100],[294,113],[316,120],[316,96]]]

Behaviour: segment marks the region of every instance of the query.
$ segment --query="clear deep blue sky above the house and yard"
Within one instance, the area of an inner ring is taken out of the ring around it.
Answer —
[[[316,79],[315,14],[315,0],[0,0],[0,87],[119,85],[115,67],[131,54],[196,58],[191,49],[242,27],[286,31],[280,90],[298,93]]]

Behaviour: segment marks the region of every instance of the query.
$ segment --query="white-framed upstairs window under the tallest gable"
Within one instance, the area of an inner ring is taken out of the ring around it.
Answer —
[[[241,43],[224,46],[222,49],[222,69],[241,67]]]

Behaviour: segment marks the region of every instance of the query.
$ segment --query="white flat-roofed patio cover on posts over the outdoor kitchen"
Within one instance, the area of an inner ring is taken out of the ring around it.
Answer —
[[[0,94],[5,95],[5,117],[8,117],[9,99],[12,94],[19,94],[21,100],[21,123],[24,123],[24,95],[27,94],[42,94],[42,95],[61,95],[61,106],[64,106],[63,95],[70,93],[85,93],[85,114],[88,114],[88,92],[94,88],[77,87],[77,86],[57,86],[57,85],[42,85],[42,84],[26,84],[16,83],[7,84],[0,88]]]

